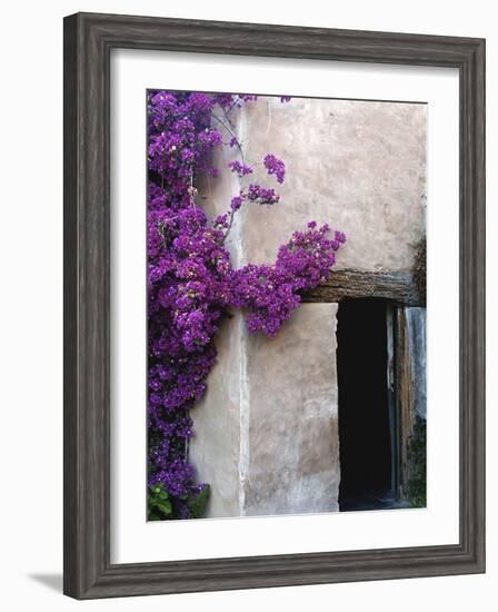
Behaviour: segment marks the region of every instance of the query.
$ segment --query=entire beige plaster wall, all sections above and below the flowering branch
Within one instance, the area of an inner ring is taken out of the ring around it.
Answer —
[[[410,269],[425,234],[426,107],[259,98],[237,117],[247,162],[286,162],[281,200],[247,206],[228,247],[236,265],[275,260],[315,219],[347,234],[338,267]],[[235,150],[219,154],[223,170]],[[251,180],[271,185],[263,168]],[[209,215],[240,188],[227,171],[200,185]],[[190,457],[212,495],[208,516],[338,510],[340,483],[333,304],[307,304],[277,338],[249,336],[240,313],[217,340],[218,365],[193,412]]]

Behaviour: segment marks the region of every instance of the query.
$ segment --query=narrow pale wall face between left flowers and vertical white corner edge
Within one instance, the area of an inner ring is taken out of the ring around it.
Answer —
[[[232,158],[232,151],[222,147],[213,161],[217,167],[225,168]],[[238,178],[229,172],[222,172],[218,179],[203,177],[198,185],[198,203],[212,218],[227,210],[239,189]],[[236,219],[227,244],[236,266],[241,261],[241,218]],[[236,312],[217,336],[218,363],[209,374],[205,398],[192,411],[196,436],[189,454],[199,481],[211,485],[207,516],[241,514],[240,454],[247,437],[246,427],[241,426],[241,418],[247,413],[242,385],[245,335],[242,314]]]

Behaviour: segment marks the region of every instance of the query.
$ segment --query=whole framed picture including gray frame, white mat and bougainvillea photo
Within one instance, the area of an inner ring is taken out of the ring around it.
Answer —
[[[64,19],[64,593],[485,571],[485,41]]]

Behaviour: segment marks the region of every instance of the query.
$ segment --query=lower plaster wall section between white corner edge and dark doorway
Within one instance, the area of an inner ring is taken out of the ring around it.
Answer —
[[[336,313],[307,304],[271,342],[248,338],[245,514],[338,510]]]

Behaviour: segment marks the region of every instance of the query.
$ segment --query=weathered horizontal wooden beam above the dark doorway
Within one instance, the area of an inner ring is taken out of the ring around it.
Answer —
[[[406,306],[425,306],[424,288],[411,272],[335,270],[330,279],[302,294],[302,302],[341,302],[360,297],[380,297]]]

